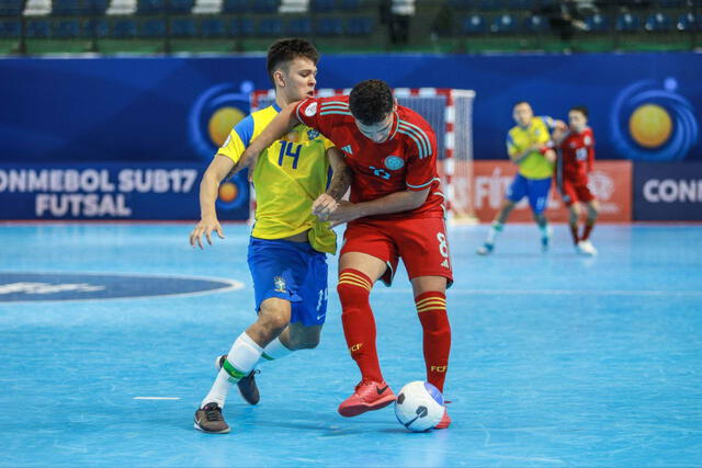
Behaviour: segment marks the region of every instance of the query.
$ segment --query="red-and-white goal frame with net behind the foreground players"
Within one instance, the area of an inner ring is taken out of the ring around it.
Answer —
[[[319,89],[317,96],[350,93],[350,89]],[[437,133],[439,172],[452,222],[475,222],[473,187],[473,101],[475,91],[449,88],[395,88],[400,105],[420,114]],[[251,92],[251,111],[275,101],[274,90]]]

